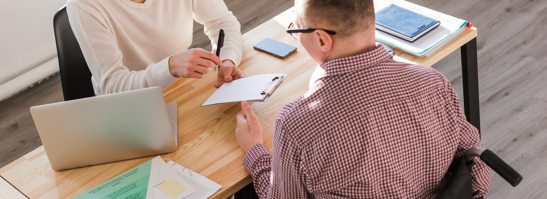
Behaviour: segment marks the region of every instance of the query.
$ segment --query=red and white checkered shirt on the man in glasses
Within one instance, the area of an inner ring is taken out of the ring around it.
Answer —
[[[243,159],[260,198],[438,198],[452,160],[482,143],[446,77],[379,45],[318,67],[273,145]],[[490,168],[476,159],[472,174],[484,195]]]

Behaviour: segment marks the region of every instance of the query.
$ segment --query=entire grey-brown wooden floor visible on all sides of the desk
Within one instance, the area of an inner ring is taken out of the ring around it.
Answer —
[[[242,32],[293,5],[291,0],[225,0]],[[497,174],[486,198],[547,198],[547,1],[410,0],[471,21],[479,28],[482,142],[519,171],[516,188]],[[210,50],[202,26],[193,47]],[[459,52],[433,67],[462,97]],[[59,75],[0,102],[0,167],[41,145],[28,108],[61,101]]]

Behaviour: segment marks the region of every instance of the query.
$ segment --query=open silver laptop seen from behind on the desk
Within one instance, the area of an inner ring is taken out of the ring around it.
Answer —
[[[55,171],[174,152],[176,111],[160,87],[31,107]]]

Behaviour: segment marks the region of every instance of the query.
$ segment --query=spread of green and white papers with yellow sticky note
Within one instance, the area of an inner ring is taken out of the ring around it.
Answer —
[[[222,186],[160,156],[101,183],[74,198],[205,199]]]

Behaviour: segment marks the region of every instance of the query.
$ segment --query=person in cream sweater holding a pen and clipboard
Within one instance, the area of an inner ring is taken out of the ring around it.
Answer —
[[[218,83],[245,77],[240,23],[223,0],[68,0],[68,19],[88,63],[96,95],[159,86],[179,78],[200,79],[220,65]],[[188,49],[193,20],[205,26],[220,57]]]

